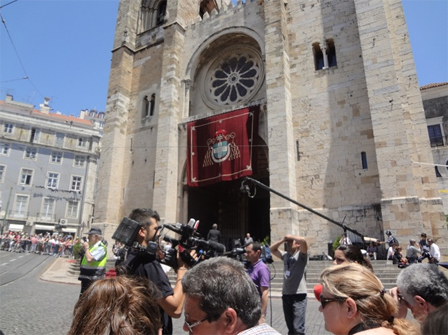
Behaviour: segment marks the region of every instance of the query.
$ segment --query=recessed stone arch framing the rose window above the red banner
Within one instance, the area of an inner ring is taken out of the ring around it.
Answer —
[[[234,109],[264,98],[264,50],[261,37],[245,27],[204,39],[187,64],[185,81],[191,85],[184,106],[190,109],[183,115]]]

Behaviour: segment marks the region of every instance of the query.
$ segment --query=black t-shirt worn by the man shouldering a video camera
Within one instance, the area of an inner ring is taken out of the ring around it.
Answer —
[[[124,265],[128,274],[148,278],[152,281],[162,293],[163,298],[173,295],[174,292],[170,281],[168,280],[165,271],[163,271],[159,261],[154,259],[154,257],[137,255],[131,251],[128,258],[124,261]],[[171,317],[165,313],[161,307],[160,314],[162,318],[163,334],[173,334],[173,321]]]

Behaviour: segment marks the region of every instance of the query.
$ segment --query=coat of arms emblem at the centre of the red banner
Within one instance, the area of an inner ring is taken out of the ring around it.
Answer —
[[[226,159],[234,160],[240,157],[240,149],[235,144],[235,133],[227,135],[225,129],[218,130],[215,137],[207,140],[208,151],[204,157],[202,166],[209,166],[213,163],[221,163]]]

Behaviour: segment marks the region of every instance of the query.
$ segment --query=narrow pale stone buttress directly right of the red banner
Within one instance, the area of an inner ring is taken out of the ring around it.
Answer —
[[[269,145],[269,183],[295,199],[295,149],[290,92],[290,61],[286,6],[283,0],[265,1],[266,98]],[[271,194],[271,240],[300,234],[297,208]]]

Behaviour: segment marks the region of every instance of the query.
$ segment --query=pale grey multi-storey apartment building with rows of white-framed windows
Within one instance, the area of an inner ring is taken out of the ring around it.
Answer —
[[[91,120],[0,101],[0,226],[81,234],[93,218],[101,130]]]

